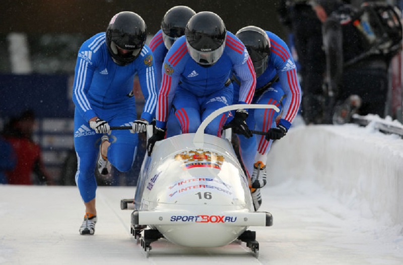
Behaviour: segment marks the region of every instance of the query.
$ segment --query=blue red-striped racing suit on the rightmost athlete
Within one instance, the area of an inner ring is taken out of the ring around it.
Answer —
[[[297,69],[287,44],[270,31],[266,31],[266,34],[271,42],[271,54],[267,69],[256,79],[256,90],[252,103],[276,105],[280,109],[280,113],[274,110],[250,110],[246,123],[249,129],[267,132],[268,129],[277,127],[276,118],[281,115],[279,124],[288,130],[301,103],[301,87]],[[235,80],[233,84],[234,100],[236,100],[240,86],[237,76],[234,76],[233,80]],[[238,138],[242,163],[247,174],[251,176],[255,155],[266,155],[270,151],[273,140],[266,141],[264,135],[258,137],[253,135],[249,139],[238,135]],[[262,162],[266,163],[266,161]]]

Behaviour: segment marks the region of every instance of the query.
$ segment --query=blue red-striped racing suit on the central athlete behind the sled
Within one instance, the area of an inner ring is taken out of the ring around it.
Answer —
[[[194,133],[209,114],[232,104],[233,86],[229,79],[232,72],[241,83],[239,103],[250,103],[256,75],[245,46],[233,33],[227,31],[223,55],[210,67],[198,65],[187,51],[185,36],[178,38],[163,63],[157,127],[166,127],[173,105],[181,132]],[[205,132],[220,137],[227,117],[225,113],[214,119]]]

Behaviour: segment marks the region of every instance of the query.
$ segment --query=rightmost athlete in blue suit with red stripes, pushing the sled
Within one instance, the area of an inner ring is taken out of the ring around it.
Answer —
[[[267,153],[273,140],[282,138],[290,129],[301,102],[301,88],[291,52],[279,36],[254,26],[240,29],[236,36],[245,44],[256,72],[253,103],[273,104],[280,109],[280,113],[250,110],[246,120],[248,127],[267,134],[250,138],[239,135],[243,165],[248,175],[253,172],[251,192],[257,210],[261,204],[260,188],[266,184]],[[233,76],[235,98],[240,89],[238,79]]]

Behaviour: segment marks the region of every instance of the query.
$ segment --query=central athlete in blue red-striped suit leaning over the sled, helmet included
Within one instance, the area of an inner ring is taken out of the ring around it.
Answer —
[[[147,149],[151,155],[156,141],[164,139],[171,105],[182,133],[194,133],[201,121],[213,111],[232,104],[235,72],[241,82],[239,103],[250,103],[256,76],[245,46],[224,22],[212,12],[194,15],[186,25],[185,36],[177,39],[164,60],[162,85],[158,95],[156,130]],[[239,130],[250,137],[246,110],[235,114]],[[221,136],[228,113],[217,117],[206,133]]]

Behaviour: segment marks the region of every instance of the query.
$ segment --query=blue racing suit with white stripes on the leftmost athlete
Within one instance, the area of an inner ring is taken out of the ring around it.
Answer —
[[[146,100],[141,118],[151,122],[157,103],[151,49],[145,45],[134,62],[119,66],[113,62],[102,32],[86,40],[79,50],[73,85],[74,146],[78,158],[76,183],[84,202],[95,198],[94,169],[102,136],[90,128],[89,120],[97,116],[110,126],[130,126],[137,119],[133,96],[136,74]],[[108,161],[118,171],[127,172],[136,157],[138,134],[116,130],[109,141]]]

